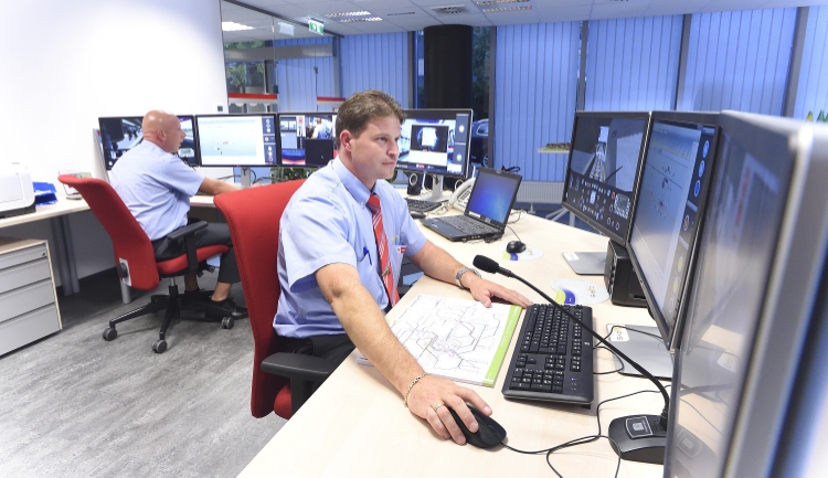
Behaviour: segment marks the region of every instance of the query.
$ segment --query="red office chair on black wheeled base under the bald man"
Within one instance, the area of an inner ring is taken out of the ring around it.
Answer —
[[[115,261],[118,264],[116,269],[121,282],[140,290],[152,290],[158,287],[162,277],[170,278],[168,296],[153,295],[146,306],[109,320],[109,327],[104,330],[105,340],[115,340],[118,337],[118,331],[115,330],[116,323],[160,310],[166,310],[166,315],[158,340],[152,343],[152,350],[156,353],[163,353],[167,350],[167,341],[164,340],[167,328],[173,319],[180,318],[181,310],[212,312],[223,317],[223,328],[233,328],[233,317],[229,310],[209,304],[201,298],[179,295],[176,285],[176,276],[188,272],[197,272],[199,264],[206,261],[208,257],[229,251],[225,245],[213,245],[198,249],[194,247],[193,233],[206,227],[205,222],[201,221],[176,230],[169,237],[184,241],[187,253],[173,259],[156,262],[149,236],[109,183],[99,179],[76,178],[72,174],[61,174],[57,180],[75,188],[81,193],[109,234],[115,249]],[[204,297],[203,294],[200,296]]]

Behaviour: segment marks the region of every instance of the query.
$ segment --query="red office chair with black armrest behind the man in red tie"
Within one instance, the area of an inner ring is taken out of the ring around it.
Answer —
[[[256,418],[270,412],[290,418],[310,396],[315,383],[323,382],[337,368],[336,363],[318,357],[279,352],[279,338],[273,329],[282,293],[276,272],[279,221],[302,182],[289,181],[215,196],[215,205],[230,225],[253,329],[251,413]]]

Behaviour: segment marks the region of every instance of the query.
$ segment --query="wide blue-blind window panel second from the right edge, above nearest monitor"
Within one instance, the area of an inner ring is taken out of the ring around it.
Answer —
[[[782,115],[796,9],[697,13],[678,109]]]

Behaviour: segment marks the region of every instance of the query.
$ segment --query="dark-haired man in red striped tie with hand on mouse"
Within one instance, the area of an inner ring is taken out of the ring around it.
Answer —
[[[402,257],[435,279],[468,288],[487,307],[495,296],[523,307],[530,301],[482,279],[417,229],[405,200],[385,181],[394,176],[403,119],[400,105],[382,92],[358,93],[342,104],[339,158],[299,188],[282,216],[274,329],[287,338],[286,351],[339,362],[355,344],[412,413],[463,444],[447,406],[473,432],[478,425],[466,402],[487,415],[491,408],[474,391],[424,373],[388,326],[384,312],[399,300]]]

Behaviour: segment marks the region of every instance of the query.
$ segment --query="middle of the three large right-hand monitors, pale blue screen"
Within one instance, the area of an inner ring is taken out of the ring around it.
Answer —
[[[672,348],[713,166],[718,116],[652,113],[629,252],[661,338]]]

